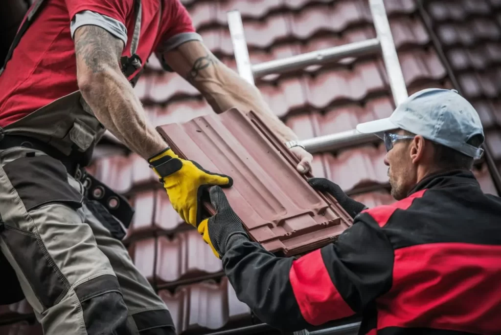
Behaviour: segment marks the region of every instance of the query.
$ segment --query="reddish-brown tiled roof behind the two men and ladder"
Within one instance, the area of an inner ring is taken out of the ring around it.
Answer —
[[[424,87],[452,88],[454,80],[421,19],[418,2],[385,0],[409,94]],[[477,108],[492,157],[501,168],[501,1],[426,0],[425,12],[453,75]],[[183,0],[205,43],[235,69],[226,11],[238,9],[253,63],[375,37],[367,0]],[[135,90],[156,125],[212,113],[184,79],[161,71],[152,57]],[[301,139],[353,129],[388,116],[393,108],[380,56],[268,75],[257,85]],[[379,144],[314,155],[314,174],[338,182],[354,198],[376,206],[388,193]],[[179,332],[259,322],[234,296],[221,262],[196,231],[182,223],[148,164],[135,154],[100,158],[98,178],[127,194],[136,214],[127,245],[139,269],[159,289]],[[475,169],[482,188],[496,193],[486,163]],[[156,252],[156,255],[155,255]],[[156,263],[155,263],[156,260]],[[4,313],[4,309],[0,309]],[[3,332],[0,328],[0,332]],[[7,332],[9,333],[9,332]],[[27,332],[13,330],[16,335]],[[10,334],[10,333],[9,333]]]

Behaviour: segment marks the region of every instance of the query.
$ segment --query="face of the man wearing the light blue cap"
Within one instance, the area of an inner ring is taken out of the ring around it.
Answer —
[[[405,135],[403,130],[389,131],[398,135]],[[407,197],[408,192],[417,182],[417,168],[411,158],[412,139],[398,139],[393,142],[384,157],[384,163],[388,165],[388,176],[391,185],[391,195],[401,200]]]

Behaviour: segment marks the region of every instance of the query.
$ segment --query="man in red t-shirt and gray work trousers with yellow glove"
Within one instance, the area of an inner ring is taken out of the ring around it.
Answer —
[[[121,242],[133,209],[83,170],[105,129],[149,162],[190,224],[201,220],[201,189],[232,184],[179,158],[146,118],[133,85],[152,53],[215,112],[260,114],[298,170],[311,168],[294,132],[204,46],[179,0],[35,1],[0,69],[0,273],[22,288],[4,284],[0,304],[26,296],[46,334],[175,333]]]

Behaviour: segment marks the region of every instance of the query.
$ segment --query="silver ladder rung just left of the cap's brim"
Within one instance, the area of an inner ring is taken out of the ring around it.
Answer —
[[[356,129],[341,131],[300,141],[310,153],[337,150],[349,145],[371,142],[378,137],[374,134],[360,133]]]

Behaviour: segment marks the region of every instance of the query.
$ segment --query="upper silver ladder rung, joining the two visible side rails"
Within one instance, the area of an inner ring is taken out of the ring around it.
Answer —
[[[287,58],[274,59],[254,64],[252,65],[252,71],[255,77],[262,77],[271,73],[283,73],[310,65],[324,64],[346,57],[353,57],[378,51],[381,51],[379,40],[377,38],[370,38],[322,50],[302,53]]]

